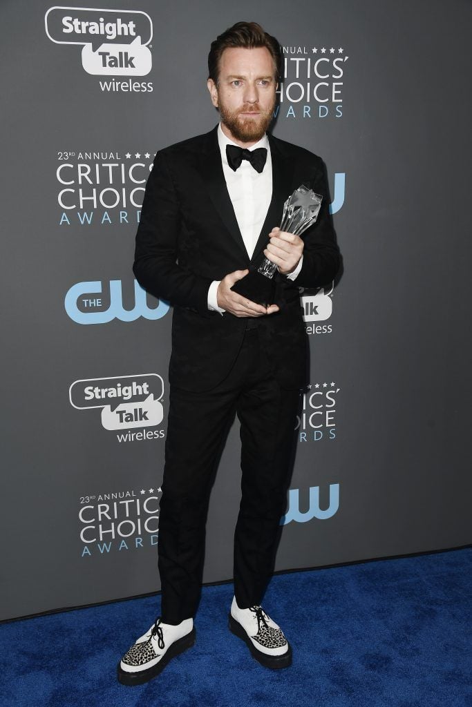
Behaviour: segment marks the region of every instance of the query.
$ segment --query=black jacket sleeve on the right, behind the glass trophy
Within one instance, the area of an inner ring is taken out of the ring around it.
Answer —
[[[316,159],[310,187],[323,197],[323,201],[316,223],[301,236],[305,244],[303,264],[294,284],[316,288],[330,284],[340,267],[340,252],[329,213],[328,181],[320,158]]]

